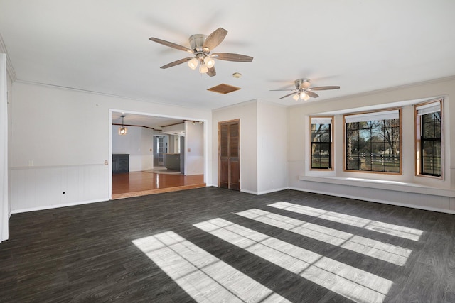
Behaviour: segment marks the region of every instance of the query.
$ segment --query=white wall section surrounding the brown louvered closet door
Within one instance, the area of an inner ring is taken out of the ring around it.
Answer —
[[[218,186],[218,123],[240,119],[240,190],[257,194],[257,100],[216,109],[212,119],[212,183]]]

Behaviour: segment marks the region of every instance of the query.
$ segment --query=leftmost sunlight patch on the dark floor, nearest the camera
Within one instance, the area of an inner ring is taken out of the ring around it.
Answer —
[[[132,242],[196,302],[289,302],[173,231]]]

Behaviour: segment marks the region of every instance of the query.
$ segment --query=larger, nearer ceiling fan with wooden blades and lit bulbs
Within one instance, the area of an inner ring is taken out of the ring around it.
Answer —
[[[196,67],[199,65],[199,72],[201,74],[207,74],[210,77],[216,75],[215,72],[215,60],[226,60],[226,61],[235,61],[235,62],[251,62],[253,57],[240,54],[232,53],[210,53],[214,48],[216,48],[226,37],[228,31],[224,28],[218,28],[217,30],[210,33],[210,35],[196,34],[192,35],[189,38],[190,48],[187,48],[183,45],[178,45],[176,43],[168,42],[166,40],[161,40],[159,38],[151,37],[150,40],[166,45],[170,48],[176,48],[177,50],[184,50],[188,53],[191,53],[193,57],[186,57],[181,60],[177,60],[166,65],[163,65],[161,68],[173,67],[184,62],[188,63],[188,66],[192,70],[196,70]]]

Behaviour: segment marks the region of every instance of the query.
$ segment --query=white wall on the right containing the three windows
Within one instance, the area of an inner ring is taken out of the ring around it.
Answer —
[[[412,100],[441,96],[444,97],[444,180],[417,177],[414,175],[414,110],[410,104]],[[454,129],[452,124],[454,123],[455,106],[451,106],[452,96],[455,96],[454,77],[346,98],[312,101],[289,107],[287,109],[289,187],[368,201],[454,212],[455,153],[451,153],[451,150],[455,148],[455,131],[451,131],[451,129]],[[343,115],[337,114],[337,112],[355,112],[373,107],[387,108],[397,105],[402,107],[402,175],[343,171]],[[331,109],[331,112],[328,112],[328,109]],[[317,114],[335,114],[333,123],[335,167],[333,172],[309,169],[309,116]],[[365,179],[365,181],[346,182],[348,177]],[[368,180],[370,181],[368,182]],[[374,180],[382,180],[382,182]]]

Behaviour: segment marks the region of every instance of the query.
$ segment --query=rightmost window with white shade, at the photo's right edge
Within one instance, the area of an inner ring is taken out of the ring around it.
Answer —
[[[416,167],[417,175],[442,176],[441,100],[417,104]]]

